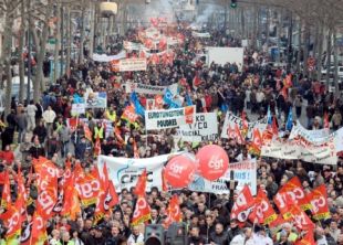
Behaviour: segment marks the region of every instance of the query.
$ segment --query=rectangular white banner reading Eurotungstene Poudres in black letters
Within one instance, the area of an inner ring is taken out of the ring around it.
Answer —
[[[157,130],[193,124],[195,114],[195,106],[168,110],[145,110],[145,128],[146,130]]]

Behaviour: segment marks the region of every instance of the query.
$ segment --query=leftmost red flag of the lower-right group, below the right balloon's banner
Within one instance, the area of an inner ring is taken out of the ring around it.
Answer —
[[[237,196],[237,200],[231,210],[231,219],[238,220],[238,222],[246,222],[253,206],[253,198],[248,184],[243,187]]]

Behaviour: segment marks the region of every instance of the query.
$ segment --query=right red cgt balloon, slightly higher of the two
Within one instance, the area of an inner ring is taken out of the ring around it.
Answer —
[[[217,145],[202,147],[196,155],[200,174],[210,181],[218,180],[229,167],[227,152]]]

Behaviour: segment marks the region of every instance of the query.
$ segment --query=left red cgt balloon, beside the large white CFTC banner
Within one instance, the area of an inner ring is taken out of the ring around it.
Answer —
[[[164,174],[173,188],[185,188],[193,181],[195,171],[196,163],[190,158],[179,155],[168,161]]]

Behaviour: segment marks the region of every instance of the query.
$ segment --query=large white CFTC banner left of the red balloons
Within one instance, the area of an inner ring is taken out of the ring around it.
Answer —
[[[103,166],[106,163],[110,180],[113,181],[117,192],[123,189],[129,191],[131,188],[136,187],[137,179],[145,169],[147,171],[146,191],[149,191],[153,187],[162,190],[163,167],[165,162],[175,155],[162,155],[154,158],[142,159],[98,156],[97,168],[100,174],[103,175]]]

